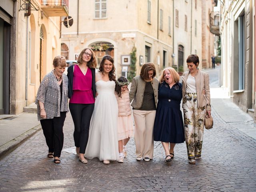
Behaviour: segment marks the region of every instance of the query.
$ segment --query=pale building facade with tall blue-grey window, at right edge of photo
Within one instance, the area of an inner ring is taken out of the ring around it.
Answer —
[[[222,82],[244,112],[254,116],[254,0],[226,0],[221,4]]]

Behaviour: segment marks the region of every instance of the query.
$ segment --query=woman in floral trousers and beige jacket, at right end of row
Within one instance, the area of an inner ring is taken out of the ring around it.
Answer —
[[[185,140],[190,164],[201,158],[205,110],[211,116],[209,75],[198,69],[199,58],[187,58],[188,72],[182,78]]]

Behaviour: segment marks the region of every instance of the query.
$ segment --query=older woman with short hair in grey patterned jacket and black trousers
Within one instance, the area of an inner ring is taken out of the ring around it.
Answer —
[[[46,74],[39,86],[36,104],[38,120],[49,148],[47,156],[54,158],[54,163],[60,163],[63,125],[68,112],[68,77],[63,74],[67,66],[65,57],[56,56],[53,66],[54,70]]]

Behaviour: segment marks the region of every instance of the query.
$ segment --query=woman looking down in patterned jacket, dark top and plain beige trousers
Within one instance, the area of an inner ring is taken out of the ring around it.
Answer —
[[[158,80],[153,63],[145,63],[140,75],[132,79],[130,102],[134,116],[134,140],[136,145],[136,160],[153,159],[154,140],[153,128],[158,100]],[[133,100],[133,101],[132,101]]]

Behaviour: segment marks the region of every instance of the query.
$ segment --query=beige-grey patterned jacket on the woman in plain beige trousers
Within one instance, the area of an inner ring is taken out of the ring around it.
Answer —
[[[151,82],[151,85],[154,90],[155,96],[155,104],[157,107],[157,100],[158,100],[158,80],[154,78]],[[143,96],[145,92],[146,81],[144,81],[140,76],[136,76],[132,79],[132,85],[130,89],[130,102],[132,102],[131,106],[134,109],[139,109],[142,106]],[[133,101],[132,101],[133,100]]]

